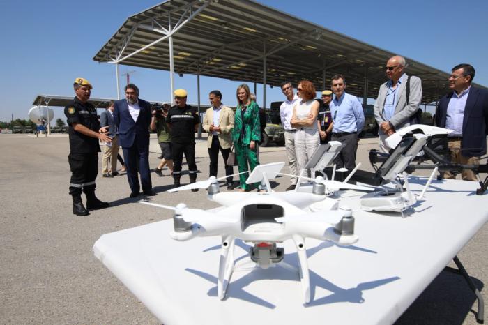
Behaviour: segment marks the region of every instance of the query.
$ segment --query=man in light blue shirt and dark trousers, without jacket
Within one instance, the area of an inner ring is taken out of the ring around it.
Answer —
[[[332,114],[332,140],[342,143],[342,150],[335,158],[337,168],[346,167],[351,172],[356,167],[359,133],[365,125],[363,107],[356,96],[345,92],[346,78],[343,75],[332,77],[332,91],[335,98],[330,103]]]

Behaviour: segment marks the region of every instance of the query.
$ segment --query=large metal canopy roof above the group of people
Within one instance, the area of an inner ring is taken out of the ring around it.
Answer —
[[[307,79],[317,90],[341,73],[349,93],[376,98],[393,55],[254,1],[169,0],[129,17],[93,60],[115,63],[118,96],[120,63],[169,70],[171,94],[174,73],[270,86]],[[450,74],[406,60],[406,73],[422,78],[422,103],[447,91]],[[266,87],[263,96],[266,107]]]

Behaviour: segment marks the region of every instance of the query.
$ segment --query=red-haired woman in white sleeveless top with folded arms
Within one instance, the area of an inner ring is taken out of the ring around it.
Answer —
[[[293,128],[296,128],[296,171],[300,173],[320,144],[319,129],[317,128],[320,104],[315,100],[317,96],[315,86],[308,80],[302,80],[298,83],[297,94],[300,101],[293,107],[290,123]],[[310,177],[310,172],[308,176]]]

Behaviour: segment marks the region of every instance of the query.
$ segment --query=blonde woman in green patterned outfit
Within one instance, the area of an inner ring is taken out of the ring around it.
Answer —
[[[242,192],[252,190],[245,181],[250,172],[259,165],[257,158],[257,143],[261,139],[259,128],[259,107],[251,100],[251,92],[247,84],[237,87],[237,109],[232,130],[232,141],[236,149],[236,158],[239,172],[248,172],[239,175]],[[258,188],[259,183],[254,187]]]

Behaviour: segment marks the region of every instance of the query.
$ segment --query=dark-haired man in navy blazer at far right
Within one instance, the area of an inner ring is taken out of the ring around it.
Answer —
[[[451,160],[462,165],[479,165],[487,153],[488,91],[471,86],[475,69],[469,64],[452,68],[449,88],[453,91],[441,98],[436,109],[436,125],[453,130],[448,135]],[[461,172],[465,181],[478,181],[472,170]],[[455,175],[445,172],[446,179]]]

